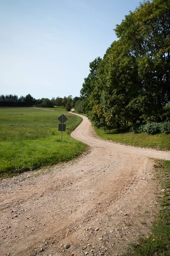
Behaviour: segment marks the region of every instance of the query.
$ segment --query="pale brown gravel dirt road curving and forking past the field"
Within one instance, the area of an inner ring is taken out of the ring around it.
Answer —
[[[99,140],[85,116],[71,133],[90,151],[70,163],[0,180],[0,255],[121,255],[147,236],[170,152]]]

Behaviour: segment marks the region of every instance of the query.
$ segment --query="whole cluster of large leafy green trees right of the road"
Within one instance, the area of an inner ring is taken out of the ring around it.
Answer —
[[[84,111],[104,129],[170,120],[170,0],[140,3],[114,31],[82,84]]]

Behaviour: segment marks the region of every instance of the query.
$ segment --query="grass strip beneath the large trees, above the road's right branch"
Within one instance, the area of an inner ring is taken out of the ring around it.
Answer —
[[[142,148],[155,148],[158,150],[170,150],[170,134],[148,135],[147,133],[135,134],[124,131],[103,131],[94,127],[96,134],[104,140],[112,140],[125,145],[133,145]]]

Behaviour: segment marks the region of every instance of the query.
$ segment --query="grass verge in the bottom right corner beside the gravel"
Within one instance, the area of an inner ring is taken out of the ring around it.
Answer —
[[[156,178],[164,188],[159,196],[160,211],[150,233],[130,244],[124,256],[169,256],[170,255],[170,161],[159,161],[155,165]]]

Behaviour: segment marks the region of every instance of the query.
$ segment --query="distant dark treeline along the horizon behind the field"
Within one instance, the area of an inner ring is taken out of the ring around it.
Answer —
[[[74,108],[75,102],[80,100],[79,97],[72,97],[71,95],[64,98],[48,98],[34,99],[30,94],[26,96],[17,95],[0,95],[0,107],[39,107],[39,108],[54,108],[54,106],[66,108],[70,111]]]

